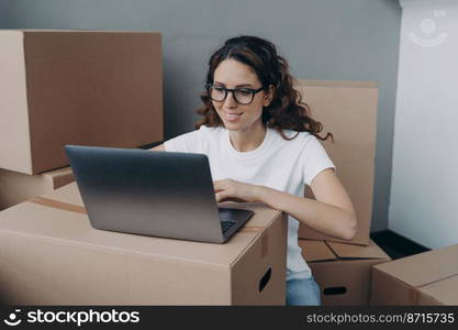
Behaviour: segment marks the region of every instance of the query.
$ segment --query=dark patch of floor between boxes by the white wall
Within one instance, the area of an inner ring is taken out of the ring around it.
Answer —
[[[391,230],[372,232],[372,241],[377,243],[392,260],[429,251],[421,244],[417,244]]]

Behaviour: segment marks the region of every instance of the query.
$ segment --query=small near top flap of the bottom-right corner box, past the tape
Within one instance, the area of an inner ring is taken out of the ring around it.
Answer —
[[[453,276],[424,287],[418,292],[427,296],[428,300],[435,300],[443,305],[458,305],[458,276]],[[436,304],[434,304],[436,305]]]

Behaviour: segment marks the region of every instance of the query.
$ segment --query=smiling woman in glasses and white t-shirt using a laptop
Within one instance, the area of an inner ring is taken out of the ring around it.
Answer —
[[[335,238],[357,231],[351,201],[317,135],[321,123],[292,87],[287,61],[255,36],[226,41],[210,58],[197,131],[156,151],[204,153],[217,201],[260,201],[288,217],[287,305],[320,305],[298,245],[299,221]],[[316,200],[304,198],[309,185]]]

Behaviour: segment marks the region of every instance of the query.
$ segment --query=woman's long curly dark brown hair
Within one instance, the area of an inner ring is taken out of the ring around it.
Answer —
[[[265,91],[273,86],[272,101],[262,109],[261,120],[267,128],[277,130],[284,140],[292,140],[297,136],[288,138],[284,135],[283,130],[292,130],[309,132],[322,141],[331,136],[334,142],[333,134],[329,132],[325,138],[319,135],[323,125],[311,118],[310,107],[302,101],[301,94],[292,86],[293,78],[289,73],[288,62],[277,54],[277,48],[272,43],[252,35],[227,40],[210,57],[206,84],[213,84],[216,67],[226,58],[238,61],[252,67]],[[224,127],[213,107],[209,91],[205,90],[200,98],[203,106],[197,110],[197,113],[203,116],[203,119],[196,123],[196,129],[201,125]]]

